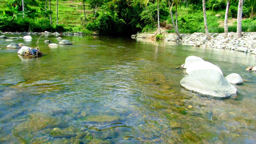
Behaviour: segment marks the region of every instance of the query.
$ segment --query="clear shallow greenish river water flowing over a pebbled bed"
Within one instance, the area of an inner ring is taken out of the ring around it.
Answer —
[[[24,35],[6,35],[19,37]],[[36,47],[32,41],[14,42]],[[130,37],[42,36],[39,58],[0,39],[0,143],[256,143],[256,55]],[[237,96],[180,86],[195,55],[238,73]]]

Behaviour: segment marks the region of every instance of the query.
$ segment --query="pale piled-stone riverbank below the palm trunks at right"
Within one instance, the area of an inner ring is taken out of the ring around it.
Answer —
[[[175,33],[164,33],[164,41],[178,42],[199,47],[211,47],[218,49],[230,49],[256,54],[256,32],[242,32],[242,37],[237,40],[236,33],[229,32],[228,37],[224,33],[210,33],[211,40],[207,40],[204,33],[180,34],[182,40]],[[156,34],[137,33],[133,38],[155,38]]]

